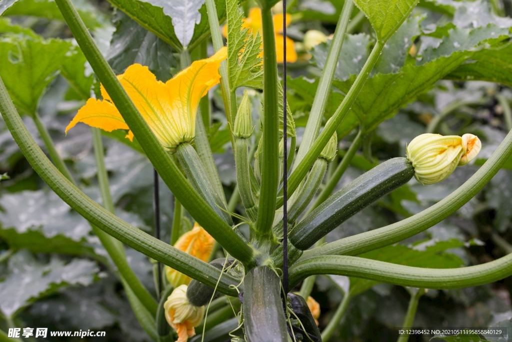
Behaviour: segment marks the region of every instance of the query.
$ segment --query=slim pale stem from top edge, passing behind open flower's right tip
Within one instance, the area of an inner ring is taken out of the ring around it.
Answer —
[[[206,13],[208,13],[208,23],[210,24],[211,42],[214,45],[215,52],[219,51],[224,47],[224,41],[222,40],[222,32],[217,17],[217,7],[215,0],[206,0]],[[233,127],[233,116],[237,111],[237,99],[234,98],[235,106],[232,106],[232,95],[231,89],[229,88],[229,78],[227,73],[227,61],[223,61],[219,68],[219,74],[221,75],[221,93],[224,108],[226,110],[226,119],[229,127]],[[229,130],[229,136],[231,138],[231,146],[234,146],[233,133]]]

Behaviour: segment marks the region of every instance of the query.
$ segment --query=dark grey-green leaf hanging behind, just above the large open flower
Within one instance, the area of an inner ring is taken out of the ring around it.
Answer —
[[[173,48],[121,11],[114,14],[116,31],[106,55],[112,70],[120,75],[132,64],[147,66],[157,79],[166,82],[178,66]]]

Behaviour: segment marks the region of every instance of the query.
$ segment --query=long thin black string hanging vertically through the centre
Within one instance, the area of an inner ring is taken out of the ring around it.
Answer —
[[[288,293],[288,204],[287,168],[288,151],[286,136],[286,0],[283,0],[283,287]]]

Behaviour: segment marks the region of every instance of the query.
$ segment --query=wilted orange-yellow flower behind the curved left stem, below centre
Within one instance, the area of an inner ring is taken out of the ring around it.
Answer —
[[[198,259],[208,261],[214,245],[215,239],[196,223],[191,231],[180,236],[174,247]],[[165,266],[165,276],[174,288],[180,285],[188,285],[192,280],[189,276],[168,266]]]

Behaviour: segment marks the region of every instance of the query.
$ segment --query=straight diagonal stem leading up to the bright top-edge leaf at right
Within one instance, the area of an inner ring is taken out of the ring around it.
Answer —
[[[375,65],[375,63],[377,63],[377,59],[379,58],[380,52],[382,51],[383,47],[384,44],[377,41],[365,65],[362,67],[362,70],[359,73],[359,75],[357,75],[354,84],[352,85],[352,87],[350,87],[350,90],[343,99],[342,103],[339,105],[338,109],[336,109],[334,115],[329,119],[329,122],[325,126],[322,133],[320,133],[318,138],[315,140],[314,144],[311,146],[310,149],[308,149],[304,158],[295,167],[295,170],[292,172],[288,179],[288,196],[291,196],[291,194],[297,189],[298,185],[301,183],[302,179],[313,165],[315,159],[318,157],[320,152],[322,152],[331,136],[334,134],[338,126],[342,123],[343,119],[345,118],[345,115],[347,115],[348,111],[354,104],[357,95],[359,95],[359,92],[365,85],[366,79],[368,78],[368,75],[370,75],[373,66]]]

